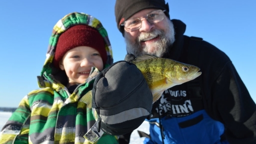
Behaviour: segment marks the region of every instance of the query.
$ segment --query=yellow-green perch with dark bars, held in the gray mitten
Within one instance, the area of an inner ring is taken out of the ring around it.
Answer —
[[[157,101],[166,89],[201,75],[197,66],[180,63],[178,61],[159,58],[155,55],[142,55],[135,58],[134,63],[142,72],[153,95],[153,103]]]

